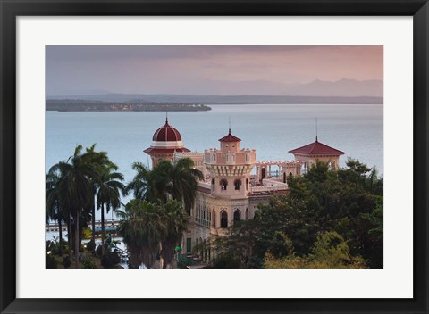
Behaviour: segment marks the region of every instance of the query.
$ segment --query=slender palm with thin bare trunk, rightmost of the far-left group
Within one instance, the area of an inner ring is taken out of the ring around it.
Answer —
[[[121,207],[121,195],[124,194],[122,173],[116,172],[118,167],[110,162],[97,177],[97,208],[101,208],[101,247],[105,255],[105,209],[109,212]]]

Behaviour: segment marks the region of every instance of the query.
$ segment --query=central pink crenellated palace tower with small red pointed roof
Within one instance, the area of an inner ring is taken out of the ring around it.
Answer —
[[[243,198],[249,192],[250,172],[257,152],[241,149],[240,138],[231,134],[219,139],[220,150],[206,149],[204,163],[210,172],[211,194],[221,198]]]

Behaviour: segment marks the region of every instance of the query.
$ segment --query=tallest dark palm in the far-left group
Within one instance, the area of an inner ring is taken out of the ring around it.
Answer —
[[[82,211],[88,208],[93,195],[90,178],[97,176],[97,170],[87,159],[82,158],[81,151],[82,146],[78,145],[68,161],[60,161],[51,168],[54,172],[60,171],[62,173],[58,183],[59,199],[65,212],[74,221],[76,268],[79,267],[80,216]]]

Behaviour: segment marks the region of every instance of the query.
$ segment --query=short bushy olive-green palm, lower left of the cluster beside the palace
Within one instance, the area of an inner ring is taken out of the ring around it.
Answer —
[[[163,211],[157,204],[131,200],[117,215],[121,217],[118,232],[130,252],[130,268],[139,268],[143,263],[150,269],[165,236]]]

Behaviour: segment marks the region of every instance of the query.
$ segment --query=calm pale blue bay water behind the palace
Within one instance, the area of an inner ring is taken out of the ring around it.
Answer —
[[[341,166],[351,157],[383,173],[383,105],[211,107],[210,112],[168,113],[170,124],[181,132],[183,144],[191,151],[217,148],[217,140],[228,133],[231,117],[231,133],[240,137],[242,148],[257,150],[258,161],[292,160],[288,151],[315,141],[317,117],[319,142],[346,152]],[[46,171],[66,161],[76,145],[97,143],[96,150],[108,152],[128,182],[134,176],[132,162],[150,162],[143,150],[164,121],[165,112],[46,112]]]

